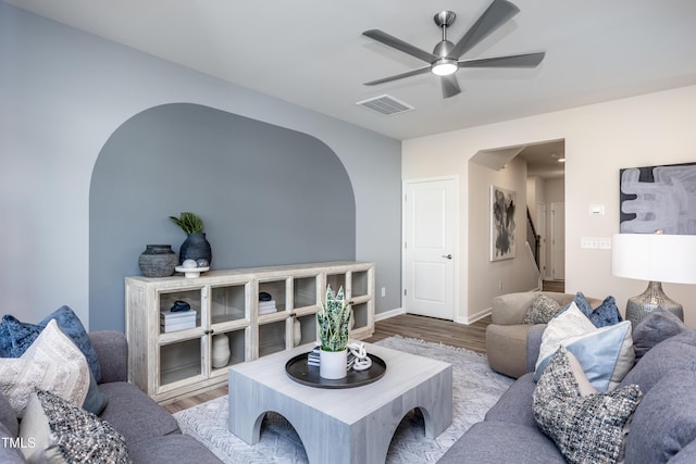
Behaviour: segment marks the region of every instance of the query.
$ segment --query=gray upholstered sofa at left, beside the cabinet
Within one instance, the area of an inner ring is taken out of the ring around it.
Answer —
[[[101,367],[99,389],[108,398],[100,414],[123,435],[134,463],[220,463],[192,437],[182,435],[176,419],[127,380],[127,344],[123,334],[89,334]],[[8,399],[0,393],[0,463],[24,463],[17,434],[20,422]]]

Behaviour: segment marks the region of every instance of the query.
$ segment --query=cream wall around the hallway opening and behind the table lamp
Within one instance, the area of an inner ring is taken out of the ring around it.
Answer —
[[[468,160],[478,150],[543,140],[566,140],[566,289],[617,298],[623,311],[629,297],[647,283],[611,276],[610,251],[580,248],[581,237],[610,237],[619,231],[619,170],[696,161],[694,109],[696,86],[540,114],[431,137],[402,145],[405,179],[459,174],[469,178]],[[462,183],[460,204],[470,204]],[[588,206],[604,204],[605,216],[591,217]],[[460,216],[460,250],[487,247],[470,234],[469,215]],[[696,256],[686,256],[696,259]],[[465,261],[460,273],[459,318],[480,313],[471,276],[487,263]],[[496,276],[489,276],[496,278]],[[666,284],[664,291],[684,305],[685,322],[696,327],[696,286]],[[489,305],[489,303],[488,303]]]

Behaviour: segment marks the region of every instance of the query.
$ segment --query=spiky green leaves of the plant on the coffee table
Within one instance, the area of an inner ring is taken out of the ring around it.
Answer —
[[[321,302],[316,313],[319,340],[324,351],[343,351],[348,344],[350,308],[340,287],[334,296],[331,285],[326,287],[326,302]]]

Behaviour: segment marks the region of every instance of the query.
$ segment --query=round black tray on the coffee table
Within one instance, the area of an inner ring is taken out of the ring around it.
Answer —
[[[285,364],[285,372],[293,380],[315,388],[353,388],[372,384],[384,376],[387,365],[380,356],[368,354],[372,360],[372,366],[364,371],[348,369],[344,378],[330,379],[319,375],[319,366],[307,364],[309,353],[298,354]]]

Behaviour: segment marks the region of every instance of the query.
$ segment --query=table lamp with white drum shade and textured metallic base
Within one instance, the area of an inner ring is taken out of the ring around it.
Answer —
[[[648,280],[648,288],[626,304],[626,321],[633,327],[658,308],[684,321],[684,309],[664,294],[662,283],[696,284],[696,236],[614,234],[611,274]]]

